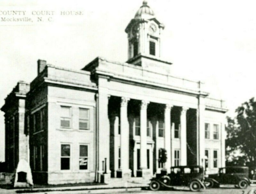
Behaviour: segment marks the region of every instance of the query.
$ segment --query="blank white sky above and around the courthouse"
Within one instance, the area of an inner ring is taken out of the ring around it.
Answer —
[[[0,22],[0,106],[17,81],[31,82],[37,60],[81,69],[97,56],[125,62],[125,27],[142,0],[1,1],[0,11],[82,10],[82,16],[31,25]],[[203,81],[210,96],[226,101],[227,115],[255,96],[256,2],[254,0],[148,0],[164,23],[162,58],[171,74]],[[1,19],[1,15],[0,15]],[[4,113],[0,113],[0,161],[4,160]]]

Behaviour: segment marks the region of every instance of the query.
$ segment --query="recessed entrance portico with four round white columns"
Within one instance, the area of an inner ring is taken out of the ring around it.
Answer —
[[[187,123],[189,123],[187,111],[189,108],[186,103],[185,106],[174,105],[174,101],[166,104],[159,103],[162,99],[159,99],[157,103],[150,101],[149,97],[145,97],[146,100],[143,100],[128,93],[123,97],[113,93],[109,93],[108,96],[108,105],[106,104],[106,106],[108,107],[107,122],[109,125],[105,125],[104,129],[108,130],[106,126],[110,126],[110,137],[109,143],[104,145],[104,149],[110,150],[112,177],[148,177],[162,168],[166,168],[169,172],[170,167],[175,166],[174,148],[179,150],[179,157],[177,157],[180,159],[179,165],[187,165]],[[175,110],[173,113],[172,108]],[[197,109],[191,108],[190,110],[194,110],[193,116],[196,118]],[[173,121],[172,117],[175,117]],[[175,137],[177,128],[180,135]],[[194,131],[196,132],[197,128]],[[108,140],[106,133],[104,139]],[[196,139],[197,134],[195,142]],[[172,147],[172,144],[175,145]],[[197,153],[198,144],[195,145],[194,152]],[[107,148],[108,146],[109,148]],[[164,166],[158,162],[160,148],[164,148],[167,154]],[[199,163],[197,157],[197,155],[194,156],[196,164]]]

